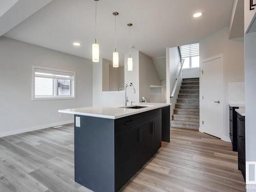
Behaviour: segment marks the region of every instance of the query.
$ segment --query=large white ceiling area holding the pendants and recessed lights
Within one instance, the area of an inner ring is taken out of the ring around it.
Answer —
[[[21,1],[21,0],[20,0]],[[166,47],[198,42],[229,25],[233,0],[100,0],[98,7],[98,43],[100,56],[112,58],[114,16],[118,11],[117,50],[129,49],[132,22],[132,46],[151,57],[165,55]],[[91,58],[94,42],[93,0],[53,0],[5,36],[49,49]],[[195,12],[203,16],[194,18]],[[74,47],[74,41],[81,42]]]

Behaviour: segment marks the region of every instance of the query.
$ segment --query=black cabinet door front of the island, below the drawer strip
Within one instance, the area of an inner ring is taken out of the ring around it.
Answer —
[[[161,117],[116,135],[116,191],[161,147]]]

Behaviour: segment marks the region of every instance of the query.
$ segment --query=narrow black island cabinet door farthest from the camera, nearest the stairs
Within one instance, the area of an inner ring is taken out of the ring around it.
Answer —
[[[152,152],[154,155],[157,153],[159,148],[161,147],[161,140],[162,140],[162,118],[158,117],[155,118],[152,122],[153,124],[153,139],[152,139]]]

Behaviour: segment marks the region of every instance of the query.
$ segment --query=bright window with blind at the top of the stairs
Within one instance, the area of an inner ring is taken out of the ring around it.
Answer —
[[[199,44],[181,46],[181,57],[185,59],[183,69],[199,68]]]

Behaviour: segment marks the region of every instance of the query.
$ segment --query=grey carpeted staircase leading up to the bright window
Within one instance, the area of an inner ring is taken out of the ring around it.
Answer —
[[[199,78],[183,79],[170,126],[199,129]]]

